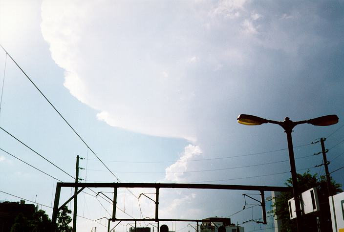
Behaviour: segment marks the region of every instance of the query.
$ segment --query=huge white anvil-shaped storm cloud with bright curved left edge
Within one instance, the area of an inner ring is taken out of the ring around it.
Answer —
[[[41,29],[65,70],[64,86],[97,119],[185,138],[193,144],[186,150],[197,150],[190,154],[210,156],[214,148],[228,151],[238,134],[229,121],[239,113],[284,117],[316,107],[307,96],[322,86],[326,69],[314,63],[325,66],[323,53],[341,43],[319,27],[339,21],[320,15],[322,4],[44,0]],[[186,170],[182,160],[167,170]]]

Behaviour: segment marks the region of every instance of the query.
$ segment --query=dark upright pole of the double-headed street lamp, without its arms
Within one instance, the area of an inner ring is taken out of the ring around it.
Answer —
[[[284,122],[287,122],[287,121],[289,121],[289,118],[287,118]],[[295,211],[296,211],[296,224],[297,224],[298,232],[301,232],[302,219],[301,219],[300,197],[299,197],[299,190],[298,190],[298,178],[297,178],[296,167],[295,167],[293,140],[291,137],[293,126],[286,125],[286,127],[283,127],[283,128],[285,129],[285,133],[287,134],[287,141],[288,141],[289,161],[290,161],[290,169],[291,169],[291,178],[293,182],[293,194],[294,194]]]

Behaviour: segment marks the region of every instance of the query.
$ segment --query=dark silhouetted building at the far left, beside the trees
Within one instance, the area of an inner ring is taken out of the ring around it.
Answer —
[[[22,213],[30,219],[35,213],[35,205],[21,202],[0,202],[0,232],[9,232],[17,215]]]

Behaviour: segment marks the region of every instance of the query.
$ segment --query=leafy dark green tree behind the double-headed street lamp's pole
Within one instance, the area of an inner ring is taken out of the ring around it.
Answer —
[[[302,224],[307,228],[308,232],[317,231],[316,218],[319,217],[321,220],[321,227],[324,228],[322,231],[327,231],[326,228],[331,227],[330,209],[328,204],[328,191],[327,182],[325,176],[318,174],[310,174],[309,170],[303,174],[297,174],[299,192],[304,192],[311,188],[316,187],[318,192],[320,212],[314,212],[305,214],[302,216]],[[292,179],[289,178],[284,183],[287,187],[292,187]],[[331,180],[330,191],[332,194],[342,192],[341,184],[337,184],[334,180]],[[278,219],[281,220],[282,232],[294,232],[296,229],[296,220],[290,220],[288,200],[293,198],[292,192],[282,192],[279,197],[276,197],[276,203],[274,206],[274,214],[277,215]]]

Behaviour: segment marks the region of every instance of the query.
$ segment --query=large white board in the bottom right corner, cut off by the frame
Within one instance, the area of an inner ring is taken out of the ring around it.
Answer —
[[[332,229],[344,232],[344,192],[328,198],[331,210]]]

